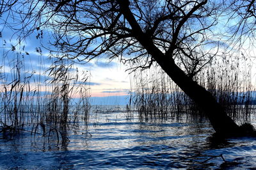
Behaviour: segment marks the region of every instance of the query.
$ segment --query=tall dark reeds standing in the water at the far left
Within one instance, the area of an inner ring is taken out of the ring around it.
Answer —
[[[65,58],[51,59],[52,65],[45,66],[42,50],[36,48],[36,52],[38,68],[31,71],[27,68],[28,52],[15,47],[12,51],[3,50],[0,67],[1,132],[13,135],[29,130],[31,134],[44,136],[56,134],[58,139],[61,136],[65,141],[68,126],[79,118],[88,120],[89,75],[79,73],[74,63]],[[74,98],[79,98],[79,102]]]

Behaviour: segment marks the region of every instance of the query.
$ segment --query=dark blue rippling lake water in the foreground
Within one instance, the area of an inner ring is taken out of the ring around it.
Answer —
[[[1,135],[0,169],[256,168],[255,138],[212,142],[212,132],[209,123],[140,122],[124,112],[98,112],[88,127],[81,122],[69,130],[66,144],[29,132]]]

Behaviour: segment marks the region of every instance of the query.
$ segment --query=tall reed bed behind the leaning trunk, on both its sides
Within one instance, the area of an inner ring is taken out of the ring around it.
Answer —
[[[252,65],[238,57],[216,58],[198,72],[194,81],[204,86],[234,120],[249,121],[255,114]],[[131,98],[143,120],[204,120],[198,106],[161,70],[134,72]]]

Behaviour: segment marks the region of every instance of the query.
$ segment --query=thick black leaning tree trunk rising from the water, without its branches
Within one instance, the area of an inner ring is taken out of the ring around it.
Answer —
[[[163,68],[169,77],[188,95],[209,118],[212,127],[219,134],[234,135],[240,133],[239,126],[236,125],[234,120],[228,117],[227,112],[221,107],[216,99],[209,91],[193,81],[188,77],[179,66],[175,64],[172,54],[166,55],[159,50],[150,36],[143,33],[140,25],[134,18],[131,10],[129,9],[129,1],[119,0],[120,12],[124,15],[125,19],[132,27],[132,35],[140,42],[140,44],[147,50],[148,54]],[[202,3],[203,4],[203,3]],[[175,45],[173,45],[175,46]],[[170,47],[175,48],[175,47]]]

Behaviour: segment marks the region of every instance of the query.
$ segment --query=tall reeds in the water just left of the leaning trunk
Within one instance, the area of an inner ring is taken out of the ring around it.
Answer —
[[[135,73],[133,80],[131,98],[141,120],[179,120],[180,114],[189,111],[191,100],[160,69]]]

